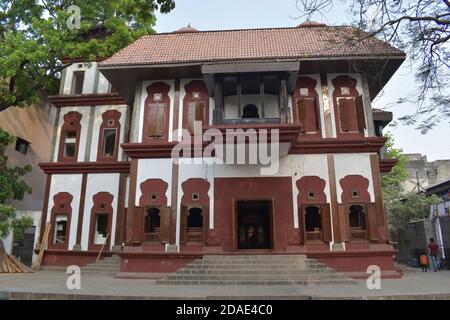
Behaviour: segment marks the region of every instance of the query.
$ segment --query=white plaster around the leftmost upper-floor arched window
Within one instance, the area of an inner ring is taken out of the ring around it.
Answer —
[[[61,113],[59,116],[59,123],[58,123],[58,130],[56,133],[56,144],[55,144],[55,153],[53,161],[58,161],[58,154],[59,154],[59,142],[61,140],[61,129],[64,124],[64,115],[71,111],[76,111],[82,115],[80,125],[81,125],[81,132],[80,132],[80,142],[78,145],[78,162],[84,162],[84,157],[86,154],[86,146],[87,146],[87,140],[88,138],[88,127],[89,127],[89,119],[90,119],[90,108],[86,107],[65,107],[61,108]],[[98,138],[97,138],[98,139]]]

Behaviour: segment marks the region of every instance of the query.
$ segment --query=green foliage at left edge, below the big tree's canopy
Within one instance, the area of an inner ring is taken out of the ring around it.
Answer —
[[[31,188],[21,180],[21,177],[31,171],[31,166],[13,168],[6,166],[8,162],[5,155],[6,147],[14,141],[14,137],[0,128],[0,238],[9,234],[11,221],[15,217],[15,210],[7,204],[7,201],[23,200],[26,193],[31,193]]]

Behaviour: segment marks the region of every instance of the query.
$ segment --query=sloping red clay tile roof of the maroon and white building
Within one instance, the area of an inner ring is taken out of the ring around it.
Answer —
[[[344,44],[355,32],[346,26],[308,26],[146,35],[100,66],[405,55],[376,38]]]

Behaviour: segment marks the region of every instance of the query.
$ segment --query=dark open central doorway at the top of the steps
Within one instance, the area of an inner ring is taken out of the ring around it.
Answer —
[[[272,201],[238,201],[238,249],[272,248]]]

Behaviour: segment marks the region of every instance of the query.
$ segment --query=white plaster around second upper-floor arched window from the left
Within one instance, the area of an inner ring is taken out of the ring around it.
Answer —
[[[102,125],[103,118],[102,115],[104,112],[109,110],[117,110],[122,116],[120,117],[120,137],[119,137],[119,152],[118,152],[118,160],[122,161],[121,157],[123,156],[123,152],[120,152],[120,145],[125,141],[125,129],[126,129],[126,118],[127,118],[127,106],[97,106],[95,108],[94,115],[94,126],[92,131],[92,140],[91,140],[91,152],[89,161],[97,161],[97,153],[98,153],[98,139],[100,138],[100,126]]]

